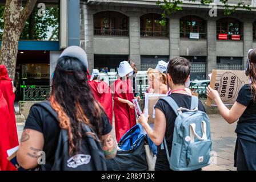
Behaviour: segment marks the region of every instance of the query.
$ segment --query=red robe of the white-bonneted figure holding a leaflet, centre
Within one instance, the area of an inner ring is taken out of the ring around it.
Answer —
[[[114,114],[115,114],[115,135],[117,142],[123,135],[136,125],[135,110],[129,105],[118,101],[118,97],[133,102],[134,94],[131,80],[119,78],[114,82]]]

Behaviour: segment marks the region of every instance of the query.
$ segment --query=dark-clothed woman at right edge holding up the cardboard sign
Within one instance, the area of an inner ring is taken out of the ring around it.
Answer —
[[[248,53],[246,75],[250,84],[244,85],[238,93],[237,101],[229,110],[221,101],[217,90],[210,86],[207,96],[214,100],[222,117],[229,123],[237,123],[237,143],[235,146],[235,167],[238,171],[256,170],[256,49]]]

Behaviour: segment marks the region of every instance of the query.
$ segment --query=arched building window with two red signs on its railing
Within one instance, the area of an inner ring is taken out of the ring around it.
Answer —
[[[218,40],[242,40],[242,23],[234,18],[222,18],[217,21]]]

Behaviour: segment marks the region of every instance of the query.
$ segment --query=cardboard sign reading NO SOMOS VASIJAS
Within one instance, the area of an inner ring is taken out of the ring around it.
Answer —
[[[211,88],[218,91],[225,105],[233,105],[237,100],[239,90],[243,85],[249,84],[249,77],[245,71],[213,70],[211,75]],[[211,106],[212,101],[208,97],[206,105]]]

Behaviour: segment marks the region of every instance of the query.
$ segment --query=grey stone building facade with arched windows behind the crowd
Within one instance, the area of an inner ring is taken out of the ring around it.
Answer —
[[[96,67],[115,69],[122,60],[132,60],[139,70],[146,71],[159,60],[177,56],[192,62],[194,80],[206,79],[212,69],[245,68],[247,51],[256,47],[254,2],[246,1],[253,7],[251,11],[238,9],[231,16],[217,6],[213,17],[209,5],[184,2],[183,10],[168,18],[166,32],[159,28],[162,11],[156,2],[80,2],[81,47],[87,53],[90,71]]]

